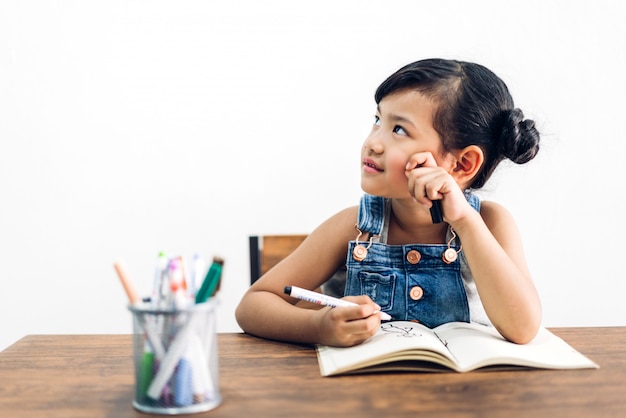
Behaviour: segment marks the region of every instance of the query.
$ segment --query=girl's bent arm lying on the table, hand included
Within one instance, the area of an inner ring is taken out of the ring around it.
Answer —
[[[345,263],[348,241],[354,239],[357,208],[334,215],[287,258],[256,281],[235,312],[241,328],[264,338],[356,345],[371,337],[380,325],[372,313],[380,309],[368,297],[351,297],[359,306],[306,309],[283,293],[285,286],[316,289]]]

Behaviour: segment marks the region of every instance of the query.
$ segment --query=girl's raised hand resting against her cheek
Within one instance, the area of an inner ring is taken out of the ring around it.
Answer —
[[[444,220],[450,224],[471,209],[451,171],[438,166],[432,153],[419,152],[411,155],[405,172],[413,200],[426,208],[441,200]]]

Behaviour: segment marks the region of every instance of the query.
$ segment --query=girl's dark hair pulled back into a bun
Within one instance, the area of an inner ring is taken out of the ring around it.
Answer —
[[[376,90],[376,103],[402,90],[416,90],[436,105],[433,127],[446,150],[479,146],[485,162],[470,188],[479,189],[505,158],[523,164],[539,151],[535,122],[513,104],[506,84],[470,62],[426,59],[406,65]]]

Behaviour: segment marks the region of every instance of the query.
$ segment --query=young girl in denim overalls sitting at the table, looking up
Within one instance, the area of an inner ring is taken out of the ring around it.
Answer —
[[[322,223],[255,282],[237,308],[239,325],[265,338],[351,346],[374,335],[382,311],[428,327],[484,323],[529,342],[541,305],[520,234],[509,212],[472,190],[504,158],[521,164],[537,154],[534,122],[502,80],[468,62],[409,64],[375,100],[359,206]],[[358,306],[313,309],[284,294],[291,285],[319,289],[342,268],[345,299]]]

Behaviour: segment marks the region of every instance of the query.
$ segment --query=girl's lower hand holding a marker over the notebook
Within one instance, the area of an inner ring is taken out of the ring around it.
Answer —
[[[350,347],[372,337],[380,328],[380,311],[369,296],[344,298],[359,306],[320,309],[317,311],[318,341],[335,347]]]

